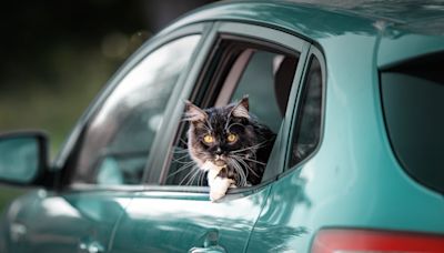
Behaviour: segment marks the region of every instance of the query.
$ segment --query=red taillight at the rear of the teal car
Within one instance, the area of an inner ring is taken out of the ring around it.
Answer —
[[[444,252],[444,236],[372,230],[321,230],[312,253],[340,252]]]

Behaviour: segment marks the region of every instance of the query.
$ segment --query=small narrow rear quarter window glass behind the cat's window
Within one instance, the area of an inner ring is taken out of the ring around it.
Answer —
[[[290,168],[312,154],[321,135],[322,120],[322,70],[320,61],[312,55],[302,87],[296,124],[293,130]]]

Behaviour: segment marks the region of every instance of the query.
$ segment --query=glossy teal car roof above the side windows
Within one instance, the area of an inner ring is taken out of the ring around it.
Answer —
[[[329,19],[326,19],[329,18]],[[359,30],[357,26],[336,26],[366,20],[369,23],[385,22],[412,33],[444,34],[444,1],[442,0],[283,0],[283,1],[221,1],[196,9],[186,21],[244,20],[275,23],[305,31],[316,28],[319,33],[340,33]],[[323,23],[322,29],[320,21]],[[305,27],[297,27],[304,23]],[[293,24],[293,26],[292,26]],[[314,27],[315,26],[315,27]],[[311,29],[310,29],[311,28]],[[364,28],[361,28],[365,30]],[[371,31],[366,31],[371,33]]]

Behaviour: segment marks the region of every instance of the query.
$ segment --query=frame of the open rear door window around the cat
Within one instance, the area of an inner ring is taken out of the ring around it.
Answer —
[[[246,40],[246,42],[252,42],[253,44],[260,47],[265,45],[266,48],[276,48],[279,52],[282,51],[282,49],[287,49],[285,51],[291,51],[299,53],[299,62],[297,67],[295,70],[292,88],[290,91],[289,100],[287,100],[287,107],[285,111],[284,119],[292,119],[293,117],[293,110],[294,110],[294,104],[295,101],[297,100],[297,91],[300,90],[300,84],[301,80],[303,80],[303,73],[305,70],[305,63],[307,60],[309,51],[310,51],[310,42],[306,40],[303,40],[302,38],[297,37],[296,34],[287,33],[284,31],[280,31],[279,29],[273,29],[273,28],[266,28],[266,27],[261,27],[261,26],[255,26],[255,24],[248,24],[248,23],[234,23],[234,22],[216,22],[214,27],[212,28],[211,32],[212,37],[208,38],[208,40],[212,41],[212,47],[216,48],[216,43],[219,40],[223,37],[233,37],[233,38],[243,38]],[[218,50],[212,50],[208,58],[205,59],[205,64],[202,69],[202,71],[199,73],[199,77],[196,78],[196,83],[194,84],[192,91],[189,92],[190,95],[183,95],[183,100],[191,100],[193,102],[196,102],[199,105],[205,105],[209,101],[205,101],[202,99],[202,88],[204,89],[211,89],[211,87],[204,87],[204,80],[205,78],[212,77],[213,73],[208,73],[208,70],[211,68],[211,64],[214,64],[216,60],[214,60],[214,53],[218,52]],[[216,98],[216,97],[215,97]],[[175,113],[173,113],[173,118],[175,119],[181,119],[181,115],[184,110],[184,104],[180,104],[176,107]],[[279,135],[276,139],[275,143],[275,149],[273,150],[273,153],[276,153],[275,156],[273,158],[273,162],[271,165],[269,165],[269,170],[265,171],[264,176],[265,180],[259,185],[254,185],[251,188],[244,188],[244,189],[232,189],[230,190],[231,193],[244,193],[246,191],[254,191],[258,188],[262,188],[263,185],[266,185],[271,182],[274,182],[275,180],[279,179],[280,174],[284,171],[285,166],[285,159],[286,159],[286,148],[289,145],[289,136],[290,136],[290,130],[291,130],[291,120],[283,120],[283,123],[281,125],[281,130],[279,131]],[[174,122],[175,123],[175,122]],[[170,165],[170,155],[171,155],[171,150],[173,149],[173,142],[175,140],[175,134],[180,133],[179,130],[179,123],[175,123],[174,132],[173,134],[169,134],[169,136],[174,135],[173,139],[169,141],[170,146],[165,152],[163,153],[163,159],[162,159],[162,164],[161,165],[162,170],[157,170],[158,173],[158,183],[160,184],[158,188],[161,189],[162,191],[173,191],[173,192],[206,192],[206,188],[204,186],[184,186],[184,185],[162,185],[163,180],[165,179],[165,173],[169,170]],[[161,159],[159,159],[160,161]],[[270,170],[271,168],[275,168],[274,170]],[[154,170],[153,170],[154,171]],[[272,172],[270,174],[270,172]],[[152,185],[149,186],[152,189]]]

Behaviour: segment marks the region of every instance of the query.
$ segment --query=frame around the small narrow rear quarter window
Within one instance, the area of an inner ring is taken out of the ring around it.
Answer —
[[[296,164],[290,166],[291,163],[291,156],[292,156],[292,152],[293,152],[293,138],[294,134],[296,134],[296,131],[299,130],[299,123],[300,123],[300,110],[302,104],[302,93],[305,91],[306,89],[306,79],[307,79],[307,74],[310,71],[310,67],[311,67],[311,62],[312,62],[312,58],[316,58],[320,67],[321,67],[321,77],[322,77],[322,98],[321,98],[321,125],[320,125],[320,138],[319,138],[319,142],[316,144],[316,148],[309,154],[306,155],[304,159],[302,159],[301,161],[299,161]],[[287,173],[299,170],[305,162],[307,162],[309,160],[311,160],[321,149],[322,146],[322,141],[323,141],[323,136],[324,136],[324,126],[325,126],[325,105],[326,105],[326,67],[325,67],[325,58],[322,53],[322,51],[320,49],[317,49],[315,45],[311,45],[310,48],[310,52],[309,55],[306,58],[306,63],[304,65],[304,73],[303,77],[301,79],[301,84],[297,90],[297,101],[295,103],[294,107],[294,111],[293,111],[293,115],[292,115],[292,120],[291,120],[291,131],[290,131],[290,136],[289,136],[289,142],[287,142],[287,146],[286,146],[286,155],[285,155],[285,165],[284,165],[284,171],[280,174],[280,178],[285,176]]]

